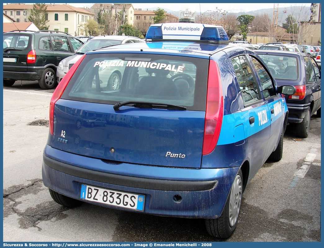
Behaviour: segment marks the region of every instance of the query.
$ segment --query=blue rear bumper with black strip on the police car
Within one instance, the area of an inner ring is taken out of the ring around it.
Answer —
[[[55,159],[53,155],[58,155],[56,157],[59,159]],[[62,159],[69,161],[62,161]],[[78,166],[76,166],[76,161],[80,162]],[[84,168],[82,163],[92,163],[92,165],[102,167],[105,171]],[[121,168],[127,167],[129,170],[120,171]],[[145,194],[144,213],[147,214],[217,218],[223,211],[238,169],[239,167],[185,169],[124,163],[116,165],[105,163],[100,159],[66,153],[46,145],[42,176],[46,187],[81,201],[86,201],[80,199],[81,184],[83,183],[122,192]],[[180,195],[182,201],[175,202],[174,195]]]

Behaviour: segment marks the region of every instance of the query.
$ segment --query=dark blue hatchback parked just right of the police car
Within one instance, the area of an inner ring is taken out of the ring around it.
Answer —
[[[321,116],[321,71],[306,53],[256,51],[269,67],[278,85],[294,85],[296,93],[287,95],[288,122],[297,123],[297,135],[306,138],[310,117]]]

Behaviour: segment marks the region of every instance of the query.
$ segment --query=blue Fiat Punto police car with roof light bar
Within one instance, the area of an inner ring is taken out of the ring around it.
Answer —
[[[282,158],[283,93],[295,87],[278,87],[223,27],[155,24],[146,41],[88,52],[64,76],[50,103],[44,185],[64,206],[204,218],[210,235],[228,238],[249,181]]]

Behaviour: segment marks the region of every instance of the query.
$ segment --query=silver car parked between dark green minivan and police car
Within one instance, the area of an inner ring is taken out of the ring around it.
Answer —
[[[63,59],[57,67],[57,81],[60,82],[69,69],[75,64],[75,62],[85,53],[99,49],[101,47],[107,47],[111,45],[124,44],[124,43],[138,43],[144,42],[143,40],[133,36],[122,35],[107,35],[97,36],[84,43],[73,56]],[[118,89],[121,81],[121,74],[118,71],[112,72],[109,77],[109,84],[111,89]],[[107,82],[106,82],[107,83]]]

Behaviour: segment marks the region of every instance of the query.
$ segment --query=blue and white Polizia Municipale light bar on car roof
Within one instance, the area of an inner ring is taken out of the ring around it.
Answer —
[[[146,41],[201,41],[228,44],[228,36],[221,26],[200,23],[162,23],[149,27]]]

